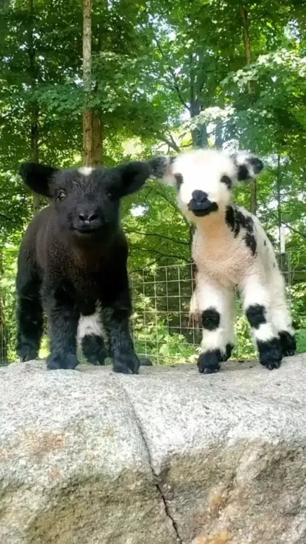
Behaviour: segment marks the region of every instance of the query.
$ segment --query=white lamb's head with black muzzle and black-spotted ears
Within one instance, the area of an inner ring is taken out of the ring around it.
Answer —
[[[252,180],[262,170],[261,160],[245,151],[232,156],[224,151],[196,150],[174,159],[152,160],[157,177],[178,190],[179,205],[192,221],[224,212],[230,203],[231,189],[238,181]]]

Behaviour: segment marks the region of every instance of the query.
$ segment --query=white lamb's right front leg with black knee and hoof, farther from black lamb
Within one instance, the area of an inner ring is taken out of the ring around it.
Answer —
[[[269,370],[279,368],[282,353],[278,331],[272,319],[273,293],[265,285],[261,274],[254,272],[244,278],[240,288],[244,313],[259,352],[259,362]]]

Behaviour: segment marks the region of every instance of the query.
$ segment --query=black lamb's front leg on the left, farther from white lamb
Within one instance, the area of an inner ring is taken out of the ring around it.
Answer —
[[[76,335],[79,312],[74,300],[60,288],[44,287],[43,299],[50,330],[50,355],[47,358],[49,370],[75,369]]]

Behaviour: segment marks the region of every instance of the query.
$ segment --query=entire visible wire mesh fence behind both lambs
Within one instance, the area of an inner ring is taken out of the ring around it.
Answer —
[[[290,255],[281,256],[287,300],[298,329],[299,351],[306,351],[306,270],[292,270]],[[133,300],[131,331],[136,353],[150,358],[152,363],[167,364],[195,361],[201,342],[197,320],[189,317],[189,305],[194,292],[192,263],[169,264],[132,270],[130,285]],[[236,348],[232,356],[238,359],[254,357],[249,327],[242,316],[241,301],[235,297]],[[0,365],[17,360],[15,351],[15,297],[0,291]],[[47,327],[42,339],[40,358],[48,354]],[[81,362],[85,362],[81,356]]]

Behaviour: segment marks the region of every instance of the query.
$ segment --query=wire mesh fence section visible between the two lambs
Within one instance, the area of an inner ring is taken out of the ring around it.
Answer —
[[[193,265],[134,270],[130,283],[132,333],[137,354],[156,363],[192,357],[201,337],[194,318],[189,319],[194,290]]]

